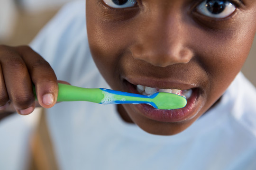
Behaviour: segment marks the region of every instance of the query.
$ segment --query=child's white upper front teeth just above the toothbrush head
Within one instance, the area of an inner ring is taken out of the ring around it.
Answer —
[[[147,87],[144,85],[137,85],[137,91],[144,95],[152,95],[157,92],[174,93],[174,94],[181,95],[181,96],[185,97],[186,99],[190,98],[190,96],[192,94],[192,89],[189,89],[189,90],[158,89],[158,88]]]

